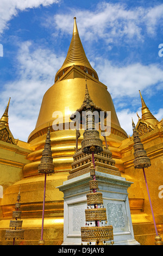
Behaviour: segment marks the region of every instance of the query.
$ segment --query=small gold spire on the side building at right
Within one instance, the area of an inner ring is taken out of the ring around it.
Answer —
[[[142,120],[148,121],[148,123],[151,123],[152,125],[156,125],[158,123],[158,120],[154,117],[154,115],[149,111],[149,108],[147,107],[145,101],[143,100],[143,97],[141,95],[141,92],[139,90],[140,97],[141,97],[141,113],[142,113]]]

